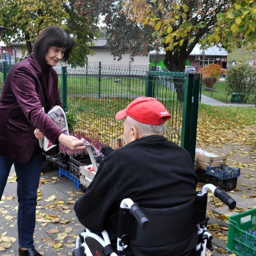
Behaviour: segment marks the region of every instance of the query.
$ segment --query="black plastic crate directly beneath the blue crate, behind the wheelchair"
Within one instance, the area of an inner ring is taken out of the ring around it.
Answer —
[[[237,177],[221,180],[221,179],[218,179],[217,177],[207,175],[205,170],[202,170],[202,169],[198,169],[196,171],[196,176],[197,176],[198,181],[203,181],[205,183],[211,183],[214,186],[219,187],[225,191],[230,191],[232,189],[235,189],[236,185],[237,185]]]

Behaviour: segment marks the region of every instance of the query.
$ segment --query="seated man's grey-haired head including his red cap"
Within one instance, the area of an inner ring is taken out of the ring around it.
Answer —
[[[171,118],[163,104],[151,97],[138,97],[127,108],[116,113],[124,119],[124,143],[150,135],[164,135],[165,121]]]

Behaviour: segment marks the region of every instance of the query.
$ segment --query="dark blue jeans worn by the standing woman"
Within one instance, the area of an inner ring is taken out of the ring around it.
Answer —
[[[42,152],[36,147],[27,163],[13,162],[0,156],[0,198],[14,164],[17,175],[19,247],[33,246],[36,221],[36,194],[42,169]]]

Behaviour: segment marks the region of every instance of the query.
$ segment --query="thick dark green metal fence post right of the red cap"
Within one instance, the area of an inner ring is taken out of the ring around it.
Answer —
[[[195,162],[196,129],[198,119],[198,98],[200,89],[200,74],[186,76],[184,92],[184,109],[182,118],[181,147],[188,150],[193,163]]]

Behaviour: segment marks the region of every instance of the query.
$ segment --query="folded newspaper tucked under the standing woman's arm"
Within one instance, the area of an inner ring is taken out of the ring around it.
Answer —
[[[44,108],[43,108],[44,111]],[[66,134],[69,135],[68,132],[68,123],[67,123],[67,118],[65,115],[65,112],[60,106],[54,106],[48,113],[47,115],[52,118],[52,121],[60,127],[60,129]],[[44,139],[39,140],[39,145],[41,148],[47,152],[51,148],[55,147],[51,141],[49,141],[46,137]]]

